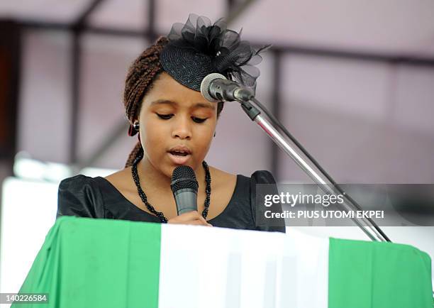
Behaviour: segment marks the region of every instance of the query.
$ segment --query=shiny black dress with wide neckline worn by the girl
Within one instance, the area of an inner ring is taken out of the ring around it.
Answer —
[[[226,209],[208,220],[213,226],[285,232],[284,220],[266,220],[257,226],[255,207],[256,185],[275,184],[268,171],[256,171],[252,177],[237,175],[235,190]],[[276,189],[277,191],[277,189]],[[104,177],[76,175],[62,180],[59,185],[57,217],[62,215],[130,221],[160,222],[157,216],[131,203]],[[212,207],[212,204],[211,204]],[[280,204],[273,211],[282,211]]]

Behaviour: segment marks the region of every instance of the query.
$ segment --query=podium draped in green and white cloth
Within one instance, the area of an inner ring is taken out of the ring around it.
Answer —
[[[412,246],[63,216],[12,307],[433,307]]]

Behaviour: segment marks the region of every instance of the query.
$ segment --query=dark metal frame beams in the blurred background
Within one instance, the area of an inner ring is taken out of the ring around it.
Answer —
[[[240,16],[245,9],[247,9],[250,4],[255,2],[254,0],[226,0],[228,8],[228,23],[234,21],[238,16]],[[82,167],[86,167],[94,163],[97,158],[104,153],[107,149],[113,145],[113,140],[119,138],[123,135],[126,130],[127,124],[125,121],[121,121],[113,130],[108,133],[108,138],[106,141],[101,143],[94,152],[87,158],[78,158],[77,156],[77,145],[78,145],[78,123],[79,123],[79,97],[80,97],[80,86],[79,86],[79,76],[80,67],[82,62],[82,45],[81,45],[81,35],[86,33],[104,34],[104,35],[114,35],[114,36],[128,36],[134,38],[145,38],[146,40],[153,41],[157,38],[160,33],[155,31],[155,16],[157,11],[157,1],[148,0],[148,29],[143,31],[131,31],[131,30],[120,30],[116,28],[101,28],[95,26],[89,26],[87,21],[89,16],[93,13],[101,4],[104,4],[104,0],[93,0],[90,2],[89,6],[84,9],[76,21],[72,24],[64,23],[43,23],[39,21],[21,21],[21,26],[23,28],[31,29],[50,29],[50,30],[61,30],[61,31],[71,31],[72,35],[72,57],[70,62],[70,68],[72,72],[71,81],[71,123],[72,129],[69,138],[69,163],[75,166],[77,170]],[[255,46],[264,45],[260,42],[252,42]],[[423,67],[433,67],[434,68],[434,58],[430,57],[405,57],[397,55],[382,55],[375,53],[357,53],[349,52],[345,50],[334,50],[326,48],[307,48],[300,45],[284,45],[275,44],[270,48],[269,53],[272,53],[274,58],[273,63],[273,97],[272,97],[272,112],[279,119],[279,114],[281,114],[282,109],[282,99],[279,97],[281,92],[281,80],[282,80],[282,58],[286,54],[301,54],[301,55],[311,55],[311,56],[324,56],[324,57],[338,57],[344,59],[352,60],[365,60],[369,62],[386,62],[392,65],[414,65]],[[279,119],[281,120],[281,119]],[[270,141],[271,142],[271,141]],[[272,173],[279,178],[279,149],[274,143],[270,143],[270,166]]]

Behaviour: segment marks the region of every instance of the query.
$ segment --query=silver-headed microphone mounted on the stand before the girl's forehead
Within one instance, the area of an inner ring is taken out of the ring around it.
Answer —
[[[202,79],[201,94],[208,101],[249,101],[255,97],[252,90],[218,73],[206,75]]]

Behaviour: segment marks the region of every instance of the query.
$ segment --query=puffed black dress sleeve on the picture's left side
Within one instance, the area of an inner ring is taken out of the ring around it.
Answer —
[[[64,215],[104,218],[104,214],[101,192],[92,177],[76,175],[60,182],[56,219]]]

